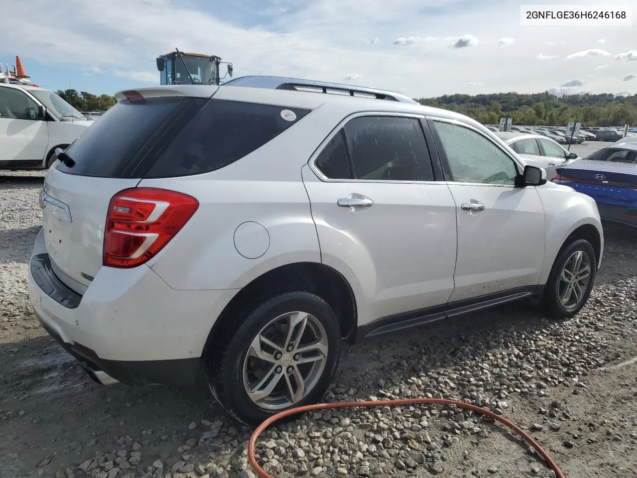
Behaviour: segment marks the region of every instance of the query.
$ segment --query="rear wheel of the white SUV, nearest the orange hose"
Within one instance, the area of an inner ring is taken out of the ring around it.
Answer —
[[[206,362],[208,384],[229,414],[255,426],[320,400],[340,347],[338,319],[326,301],[308,292],[280,294],[217,342]]]

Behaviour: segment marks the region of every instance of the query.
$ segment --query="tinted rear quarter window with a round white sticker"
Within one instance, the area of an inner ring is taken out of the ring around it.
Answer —
[[[309,110],[211,99],[175,136],[145,177],[218,170],[262,147],[307,113]]]

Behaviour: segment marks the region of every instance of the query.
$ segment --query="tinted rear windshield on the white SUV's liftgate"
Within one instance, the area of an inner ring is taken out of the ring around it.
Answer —
[[[62,163],[55,167],[82,176],[117,177],[182,101],[180,97],[168,97],[118,102],[66,148],[75,164],[71,168]]]

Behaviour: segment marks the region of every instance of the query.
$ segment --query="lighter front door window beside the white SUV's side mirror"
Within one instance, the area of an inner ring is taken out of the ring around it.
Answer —
[[[468,127],[433,122],[447,156],[452,181],[480,184],[515,184],[513,159],[482,134]]]

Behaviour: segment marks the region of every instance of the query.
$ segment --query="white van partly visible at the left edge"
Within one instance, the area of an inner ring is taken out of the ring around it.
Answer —
[[[0,170],[47,169],[91,124],[53,91],[0,83]]]

